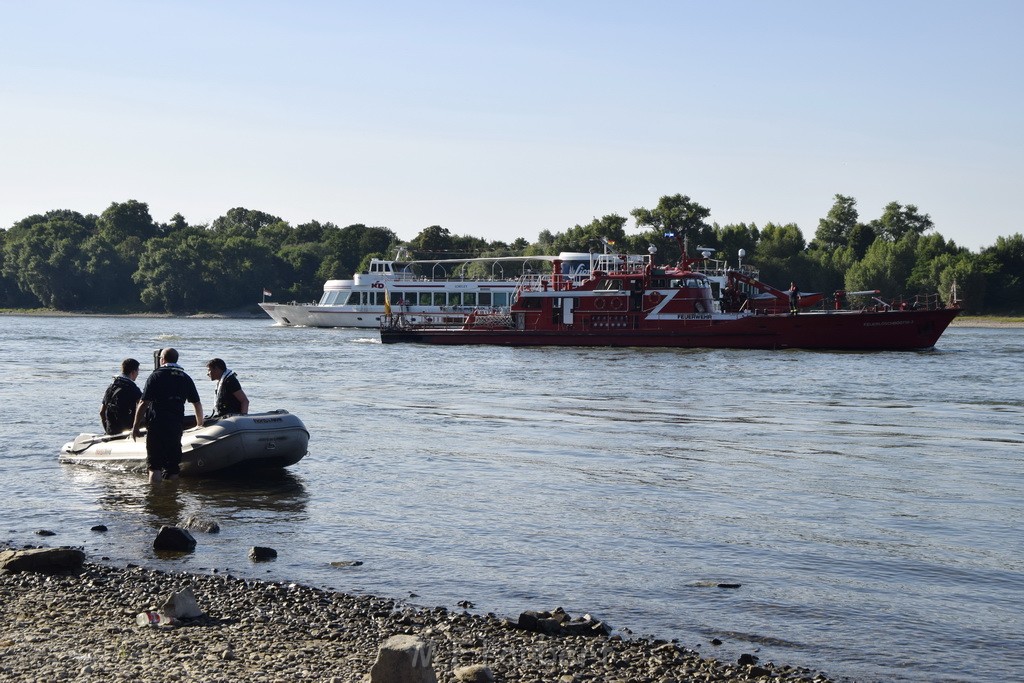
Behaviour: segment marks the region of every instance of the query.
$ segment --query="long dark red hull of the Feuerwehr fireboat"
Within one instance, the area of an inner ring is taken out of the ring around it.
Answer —
[[[919,350],[935,346],[958,308],[889,311],[816,311],[790,314],[713,315],[707,319],[641,321],[621,316],[624,327],[587,329],[392,327],[385,344],[497,346],[639,346],[673,348]],[[613,316],[609,316],[613,317]],[[640,329],[628,329],[629,325]]]

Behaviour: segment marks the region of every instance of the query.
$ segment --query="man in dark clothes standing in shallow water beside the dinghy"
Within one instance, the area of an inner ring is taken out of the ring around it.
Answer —
[[[160,351],[160,367],[145,381],[142,397],[135,412],[131,436],[139,435],[139,416],[148,419],[145,434],[145,463],[150,483],[177,479],[181,472],[181,432],[185,401],[196,411],[196,424],[203,426],[203,403],[196,383],[178,365],[178,352],[173,348]]]

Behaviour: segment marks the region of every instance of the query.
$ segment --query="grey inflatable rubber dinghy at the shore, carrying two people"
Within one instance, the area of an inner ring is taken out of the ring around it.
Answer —
[[[288,411],[207,418],[181,434],[181,476],[288,467],[308,444],[305,425]],[[59,461],[145,470],[145,436],[79,434],[60,449]]]

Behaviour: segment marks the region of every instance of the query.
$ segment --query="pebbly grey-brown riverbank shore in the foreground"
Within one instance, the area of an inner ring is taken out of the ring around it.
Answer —
[[[137,624],[139,612],[185,589],[202,616]],[[366,681],[381,645],[402,634],[427,644],[445,683],[829,680],[753,655],[718,661],[663,640],[549,635],[495,614],[89,562],[58,573],[0,569],[0,624],[5,681]],[[471,670],[493,678],[468,679]]]

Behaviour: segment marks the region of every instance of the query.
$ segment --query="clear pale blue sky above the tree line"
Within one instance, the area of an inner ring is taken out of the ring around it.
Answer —
[[[1024,231],[1022,27],[1019,0],[0,0],[0,226],[138,200],[534,241],[683,194],[810,240],[842,194],[977,251]]]

